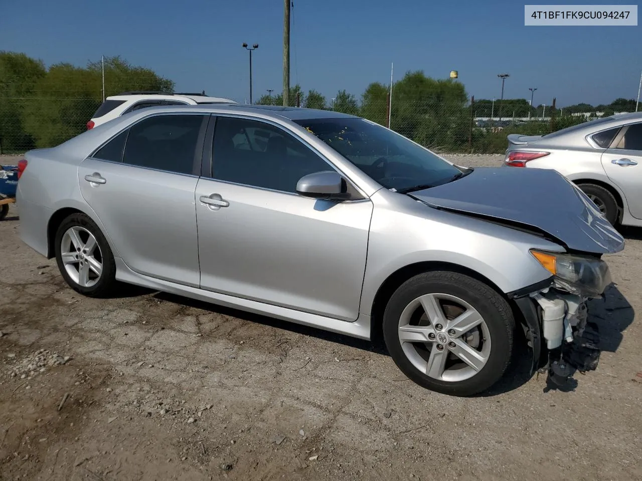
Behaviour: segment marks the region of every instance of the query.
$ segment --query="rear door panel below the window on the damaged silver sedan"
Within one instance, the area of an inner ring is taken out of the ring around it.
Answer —
[[[83,198],[131,269],[198,286],[198,178],[94,158],[78,175]]]

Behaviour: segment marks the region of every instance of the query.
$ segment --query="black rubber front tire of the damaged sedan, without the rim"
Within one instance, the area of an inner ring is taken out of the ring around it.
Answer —
[[[472,378],[458,382],[440,381],[421,373],[406,357],[399,341],[399,317],[411,301],[429,293],[456,296],[482,315],[490,333],[490,356],[482,370]],[[464,274],[441,271],[419,274],[395,291],[385,310],[383,336],[397,367],[415,383],[431,391],[471,396],[489,389],[505,373],[512,354],[514,326],[512,311],[497,292]]]

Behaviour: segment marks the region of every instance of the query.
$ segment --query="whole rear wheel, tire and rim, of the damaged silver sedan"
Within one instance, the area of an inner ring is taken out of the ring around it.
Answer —
[[[71,214],[62,221],[56,231],[55,253],[60,274],[74,291],[89,297],[114,292],[114,255],[100,228],[87,215]]]

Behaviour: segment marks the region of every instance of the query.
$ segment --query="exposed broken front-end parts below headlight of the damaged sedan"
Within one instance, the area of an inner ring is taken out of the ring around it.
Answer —
[[[532,371],[548,373],[547,389],[566,384],[576,371],[596,369],[600,350],[598,326],[589,321],[589,298],[603,297],[611,283],[606,276],[599,295],[582,296],[564,291],[551,279],[544,289],[514,298],[523,315],[525,333],[533,352]]]

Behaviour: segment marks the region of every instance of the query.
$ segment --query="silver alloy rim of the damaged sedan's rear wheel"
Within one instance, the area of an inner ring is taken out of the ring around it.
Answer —
[[[96,237],[80,226],[67,229],[60,241],[65,271],[80,287],[92,287],[103,274],[103,256]]]

